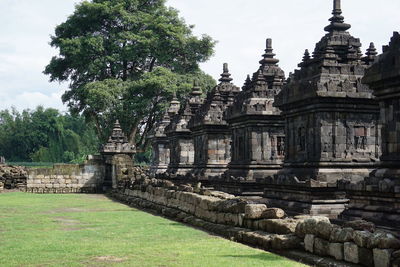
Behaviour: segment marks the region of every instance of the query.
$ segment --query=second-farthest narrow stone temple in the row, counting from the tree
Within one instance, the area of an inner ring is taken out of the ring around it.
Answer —
[[[171,123],[166,127],[166,134],[170,144],[170,163],[167,175],[169,178],[178,178],[190,173],[194,163],[194,141],[192,132],[188,128],[190,119],[203,104],[204,98],[200,87],[194,82],[192,91],[179,113],[174,115]]]

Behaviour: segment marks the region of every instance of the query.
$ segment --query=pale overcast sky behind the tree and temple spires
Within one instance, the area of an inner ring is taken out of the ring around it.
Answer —
[[[56,55],[48,42],[56,25],[65,21],[78,0],[0,0],[0,109],[65,110],[60,97],[68,83],[49,83],[42,74]],[[234,83],[243,84],[258,68],[265,39],[273,39],[274,52],[285,73],[292,72],[306,48],[324,35],[332,0],[168,0],[180,10],[195,34],[207,33],[218,41],[215,56],[202,69],[219,78],[229,63]],[[350,33],[361,39],[363,52],[375,42],[379,52],[393,31],[400,30],[399,0],[342,0]]]

